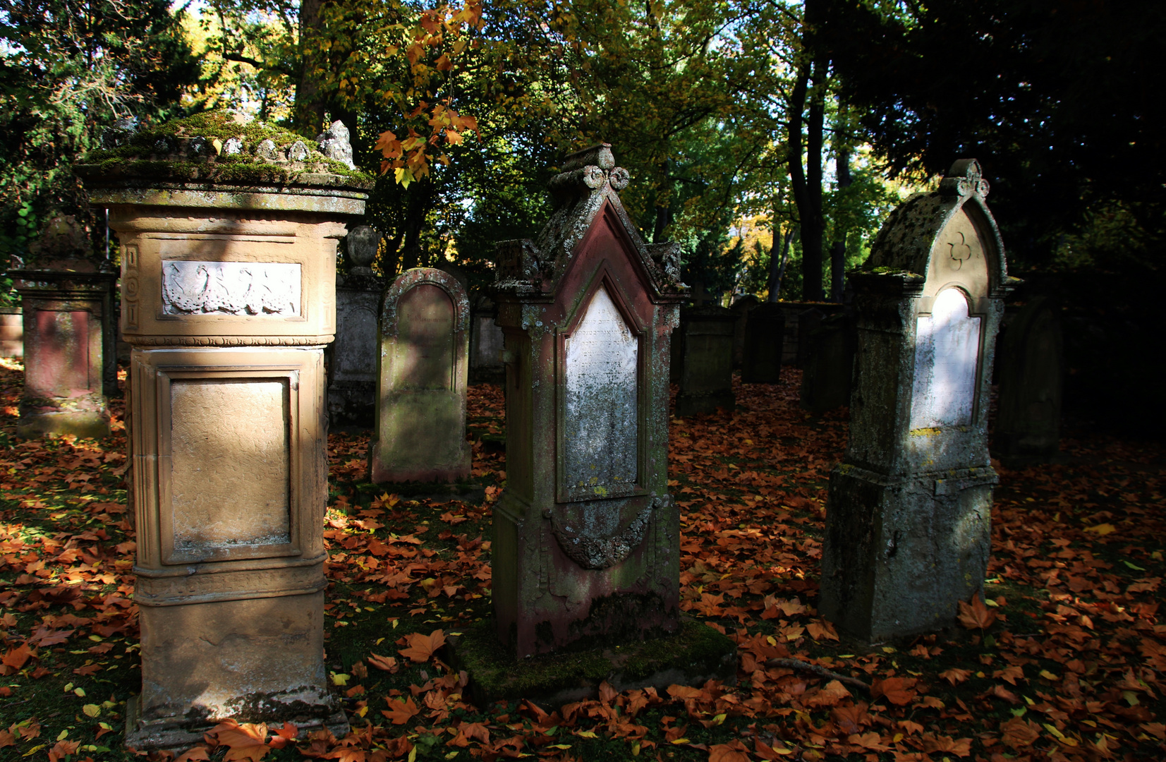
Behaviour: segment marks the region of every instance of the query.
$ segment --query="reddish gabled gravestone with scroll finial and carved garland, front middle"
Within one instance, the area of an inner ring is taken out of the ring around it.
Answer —
[[[627,182],[610,146],[574,153],[550,181],[538,243],[498,245],[506,489],[493,600],[520,659],[680,628],[667,484],[679,247],[645,244],[619,201]],[[730,363],[731,315],[724,324]]]

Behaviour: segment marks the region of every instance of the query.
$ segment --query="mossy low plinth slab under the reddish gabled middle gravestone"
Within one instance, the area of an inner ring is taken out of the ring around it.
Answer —
[[[672,637],[521,660],[507,655],[490,620],[449,637],[447,643],[450,663],[469,673],[468,690],[479,707],[529,699],[549,709],[593,698],[604,680],[617,691],[701,686],[712,679],[737,683],[737,644],[693,620],[684,620]]]

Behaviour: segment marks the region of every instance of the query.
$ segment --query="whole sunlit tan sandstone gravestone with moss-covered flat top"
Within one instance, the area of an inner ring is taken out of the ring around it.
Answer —
[[[210,112],[76,167],[121,242],[133,345],[129,747],[189,746],[226,718],[347,725],[323,660],[324,347],[371,180],[321,142]]]

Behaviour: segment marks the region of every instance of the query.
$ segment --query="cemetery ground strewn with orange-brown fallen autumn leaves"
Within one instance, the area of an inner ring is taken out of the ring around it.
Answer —
[[[0,363],[0,760],[138,758],[121,400],[107,440],[20,441],[21,366]],[[738,643],[736,685],[471,702],[442,646],[490,615],[506,478],[500,392],[475,386],[480,504],[388,494],[367,483],[367,435],[330,438],[326,664],[352,733],[226,722],[183,758],[1166,758],[1160,445],[1070,428],[1067,462],[999,469],[985,600],[951,631],[866,646],[815,611],[847,418],[809,415],[784,379],[672,420],[682,607]]]

